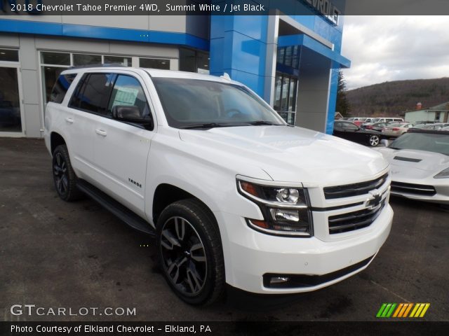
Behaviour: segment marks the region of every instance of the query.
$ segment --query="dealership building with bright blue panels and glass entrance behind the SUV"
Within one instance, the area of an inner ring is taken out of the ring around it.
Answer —
[[[294,0],[309,15],[29,15],[10,2],[0,0],[0,137],[42,137],[59,73],[110,63],[228,73],[288,123],[333,131],[338,71],[350,66],[340,10]]]

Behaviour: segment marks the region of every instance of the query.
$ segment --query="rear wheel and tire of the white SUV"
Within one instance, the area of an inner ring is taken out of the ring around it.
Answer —
[[[81,190],[76,188],[76,175],[70,164],[67,146],[60,145],[53,151],[53,182],[56,193],[61,200],[72,202],[83,197]]]

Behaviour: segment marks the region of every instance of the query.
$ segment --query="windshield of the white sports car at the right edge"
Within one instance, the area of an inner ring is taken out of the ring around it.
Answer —
[[[449,133],[406,133],[391,143],[393,149],[417,149],[449,155]]]

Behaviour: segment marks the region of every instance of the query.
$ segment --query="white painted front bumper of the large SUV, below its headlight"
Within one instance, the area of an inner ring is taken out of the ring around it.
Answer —
[[[386,204],[368,230],[336,241],[265,235],[248,228],[241,216],[221,211],[216,211],[215,216],[222,235],[227,283],[248,292],[279,294],[330,286],[368,267],[371,260],[337,279],[316,286],[268,288],[263,281],[264,274],[321,276],[373,257],[389,235],[393,210]]]

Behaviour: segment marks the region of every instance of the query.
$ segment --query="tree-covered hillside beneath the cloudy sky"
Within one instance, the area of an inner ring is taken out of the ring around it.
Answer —
[[[347,91],[351,116],[399,116],[449,102],[449,78],[395,80]]]

